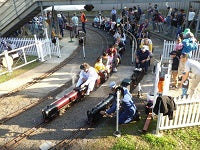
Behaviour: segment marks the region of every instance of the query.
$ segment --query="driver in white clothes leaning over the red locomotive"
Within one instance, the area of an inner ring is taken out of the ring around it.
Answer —
[[[83,63],[80,66],[81,72],[79,74],[79,79],[76,84],[76,87],[83,88],[88,86],[87,92],[85,95],[89,95],[90,92],[94,89],[96,80],[98,79],[98,74],[96,70],[91,67],[88,63]]]

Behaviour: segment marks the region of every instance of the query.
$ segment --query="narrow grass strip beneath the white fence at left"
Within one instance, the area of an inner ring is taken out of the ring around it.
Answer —
[[[33,60],[33,59],[35,59],[35,56],[30,56],[30,57],[27,58],[27,61],[30,61],[30,60]],[[22,61],[18,62],[17,65],[20,65],[20,64],[22,64]],[[41,62],[35,61],[35,62],[30,63],[30,64],[28,64],[28,65],[26,65],[26,66],[24,66],[22,68],[16,69],[13,72],[1,75],[0,76],[0,83],[6,82],[6,81],[8,81],[10,79],[13,79],[13,78],[15,78],[15,77],[17,77],[17,76],[19,76],[19,75],[31,70],[31,69],[33,69],[35,67],[39,66],[40,64],[41,64]],[[4,70],[5,69],[2,69],[2,71],[4,71]]]

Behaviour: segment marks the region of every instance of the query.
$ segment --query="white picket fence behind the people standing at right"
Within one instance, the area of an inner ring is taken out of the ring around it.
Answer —
[[[169,53],[174,50],[175,48],[175,41],[166,41],[164,40],[164,45],[163,45],[163,52],[162,52],[162,59],[163,60],[169,60],[170,55]],[[199,61],[200,62],[200,44],[198,42],[198,49],[195,51],[192,51],[192,57],[193,60]]]

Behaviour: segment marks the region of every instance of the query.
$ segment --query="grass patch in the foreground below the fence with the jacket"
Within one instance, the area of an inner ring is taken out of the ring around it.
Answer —
[[[88,149],[103,150],[198,150],[200,147],[200,127],[166,130],[161,136],[153,134],[156,129],[156,120],[152,120],[148,133],[142,134],[145,116],[138,122],[120,125],[122,133],[120,138],[113,136],[115,131],[115,119],[104,120],[103,125],[93,133],[95,142],[87,144]],[[104,145],[102,147],[102,145]],[[84,149],[84,148],[83,148]]]

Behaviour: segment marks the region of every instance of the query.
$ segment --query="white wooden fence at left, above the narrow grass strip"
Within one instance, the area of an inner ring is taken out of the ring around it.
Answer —
[[[15,69],[21,68],[27,64],[30,64],[36,60],[45,61],[51,56],[61,57],[59,40],[56,40],[56,44],[53,44],[51,40],[38,39],[36,35],[34,38],[0,38],[0,41],[6,41],[12,43],[13,50],[3,50],[1,44],[0,60],[1,67],[5,67],[0,71],[0,75],[7,72],[12,72]],[[19,47],[19,48],[17,48]],[[28,60],[28,56],[37,56],[32,60]],[[49,56],[49,57],[47,57]],[[13,61],[14,60],[14,61]],[[20,63],[18,63],[20,62]]]

